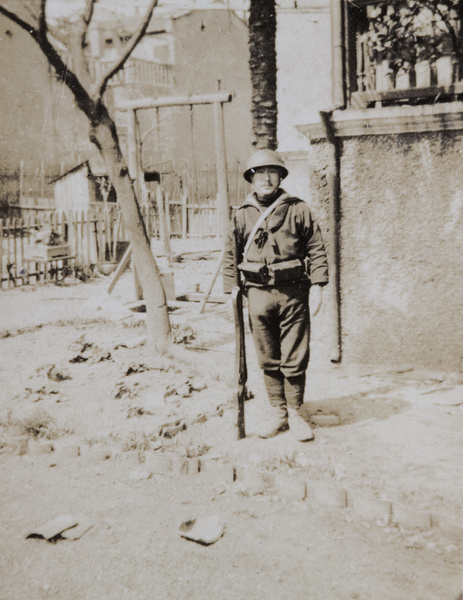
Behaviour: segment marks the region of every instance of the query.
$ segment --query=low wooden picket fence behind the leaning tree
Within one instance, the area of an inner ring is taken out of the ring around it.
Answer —
[[[212,204],[170,201],[161,194],[162,206],[142,208],[150,239],[217,235],[219,224]],[[160,210],[159,210],[160,208]],[[35,259],[37,244],[59,236],[69,245],[68,256],[85,265],[117,262],[127,248],[121,211],[117,205],[103,208],[94,204],[87,212],[26,212],[21,218],[0,219],[0,289],[48,280],[58,275],[67,261]]]

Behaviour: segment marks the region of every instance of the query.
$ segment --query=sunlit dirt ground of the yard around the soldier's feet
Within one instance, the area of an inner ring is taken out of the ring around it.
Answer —
[[[211,256],[173,264],[178,295],[205,289]],[[456,600],[461,375],[315,359],[305,403],[315,441],[261,440],[267,404],[248,338],[254,398],[238,441],[227,307],[200,315],[198,303],[179,304],[178,343],[150,357],[144,315],[128,308],[132,274],[111,296],[109,283],[0,292],[1,600]],[[370,503],[332,506],[311,486]],[[369,514],[380,501],[412,516]],[[26,539],[63,515],[91,528],[77,540]],[[416,515],[430,526],[417,528]],[[180,536],[182,522],[207,516],[224,527],[215,543]]]

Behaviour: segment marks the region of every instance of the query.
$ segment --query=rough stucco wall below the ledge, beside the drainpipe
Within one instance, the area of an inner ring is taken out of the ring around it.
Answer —
[[[463,370],[463,132],[346,138],[343,360]],[[325,201],[326,144],[311,148]]]

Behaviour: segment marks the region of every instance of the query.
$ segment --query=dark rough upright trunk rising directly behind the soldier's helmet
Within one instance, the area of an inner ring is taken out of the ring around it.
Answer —
[[[252,133],[257,148],[277,147],[277,65],[275,0],[251,0],[249,67],[252,87]]]

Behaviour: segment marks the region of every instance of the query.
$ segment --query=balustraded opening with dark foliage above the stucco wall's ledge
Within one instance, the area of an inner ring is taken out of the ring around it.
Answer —
[[[352,108],[463,99],[463,0],[345,3]]]

